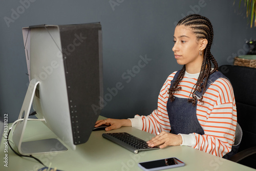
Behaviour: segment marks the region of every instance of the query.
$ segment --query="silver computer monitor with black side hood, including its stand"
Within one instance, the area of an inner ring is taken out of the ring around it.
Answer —
[[[33,103],[37,118],[75,149],[89,139],[102,109],[101,25],[30,26],[23,37],[30,83],[13,142],[23,155],[67,149],[57,139],[23,142]]]

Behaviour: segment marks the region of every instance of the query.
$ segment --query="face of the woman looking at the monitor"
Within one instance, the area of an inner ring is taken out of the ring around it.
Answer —
[[[199,54],[202,40],[198,40],[188,26],[180,25],[174,32],[174,56],[179,65],[186,65],[190,74],[200,72],[203,55]]]

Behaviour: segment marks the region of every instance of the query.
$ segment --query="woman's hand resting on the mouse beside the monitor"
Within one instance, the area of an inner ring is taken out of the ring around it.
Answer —
[[[98,127],[100,125],[108,125],[108,127],[105,128],[105,131],[115,130],[119,129],[122,126],[132,126],[132,122],[130,119],[103,119],[103,120],[97,120],[95,123],[95,127]]]

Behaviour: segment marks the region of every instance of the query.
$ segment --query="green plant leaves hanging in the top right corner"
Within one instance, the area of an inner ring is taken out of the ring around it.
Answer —
[[[241,5],[242,0],[239,2],[239,7]],[[252,28],[253,18],[254,18],[254,27],[256,27],[256,0],[244,0],[244,6],[246,7],[246,16],[250,18],[250,24]]]

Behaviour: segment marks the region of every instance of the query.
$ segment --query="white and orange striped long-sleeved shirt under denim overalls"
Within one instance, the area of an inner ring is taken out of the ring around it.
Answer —
[[[158,108],[148,116],[136,115],[131,119],[132,126],[137,129],[156,134],[169,132],[171,127],[166,109],[170,81],[176,72],[170,74],[163,84],[158,96]],[[174,96],[191,98],[190,92],[197,82],[198,74],[185,73],[180,87]],[[203,95],[204,103],[197,103],[197,118],[204,130],[204,135],[191,133],[180,134],[183,143],[200,151],[223,157],[231,151],[237,125],[237,110],[231,83],[219,78],[212,83]],[[191,104],[192,105],[192,104]]]

